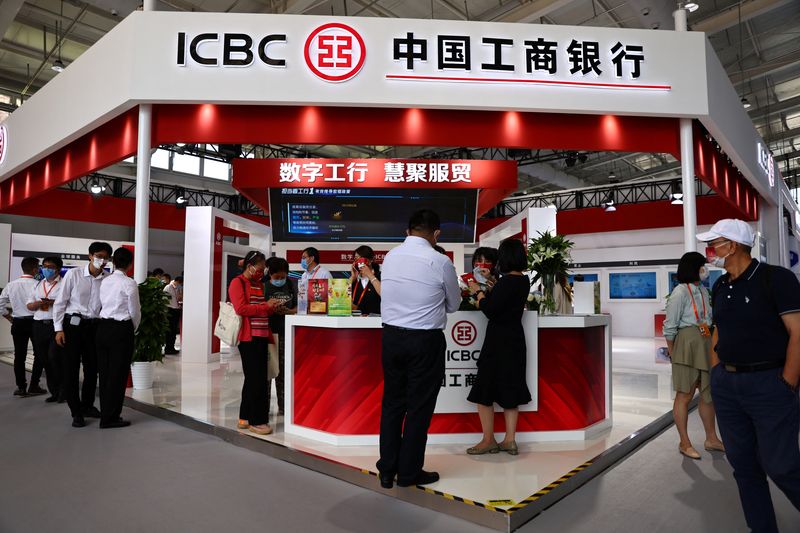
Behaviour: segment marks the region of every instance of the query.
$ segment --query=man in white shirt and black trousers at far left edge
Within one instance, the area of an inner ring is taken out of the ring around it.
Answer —
[[[34,352],[33,372],[31,373],[31,386],[25,374],[25,360],[28,358],[28,342],[33,334],[33,312],[28,310],[28,296],[36,286],[34,275],[39,271],[39,260],[35,257],[26,257],[22,260],[22,277],[11,281],[0,293],[0,312],[11,322],[11,337],[14,339],[14,377],[17,381],[17,390],[14,396],[28,396],[29,394],[44,394],[39,386],[44,362],[41,356],[36,357]],[[9,316],[8,306],[11,306]]]

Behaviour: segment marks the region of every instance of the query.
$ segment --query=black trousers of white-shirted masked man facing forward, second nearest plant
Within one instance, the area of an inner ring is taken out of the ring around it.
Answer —
[[[97,393],[97,320],[81,319],[77,326],[70,324],[70,320],[71,315],[66,315],[64,351],[67,363],[63,386],[69,410],[75,417],[94,406]],[[80,386],[81,365],[83,365],[83,386]]]

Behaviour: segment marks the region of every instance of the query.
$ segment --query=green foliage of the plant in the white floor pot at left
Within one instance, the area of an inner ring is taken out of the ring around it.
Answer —
[[[167,340],[169,319],[167,302],[169,295],[164,286],[156,278],[147,278],[139,284],[139,303],[142,306],[142,321],[136,330],[134,363],[148,363],[164,360],[161,351]]]

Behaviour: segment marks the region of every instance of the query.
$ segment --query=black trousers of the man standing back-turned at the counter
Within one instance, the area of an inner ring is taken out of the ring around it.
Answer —
[[[441,330],[384,327],[381,458],[378,470],[411,482],[425,464],[428,428],[444,380],[447,344]]]

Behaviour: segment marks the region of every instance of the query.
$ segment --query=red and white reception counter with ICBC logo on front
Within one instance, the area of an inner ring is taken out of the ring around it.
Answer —
[[[430,443],[474,444],[481,433],[475,405],[466,397],[486,322],[474,311],[448,316],[445,379]],[[533,401],[520,407],[517,440],[583,440],[611,427],[611,318],[526,312],[523,325]],[[380,317],[287,317],[287,433],[333,445],[378,443],[381,331]],[[499,409],[495,416],[502,432]]]

